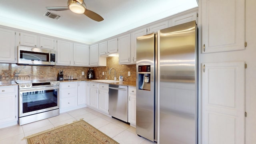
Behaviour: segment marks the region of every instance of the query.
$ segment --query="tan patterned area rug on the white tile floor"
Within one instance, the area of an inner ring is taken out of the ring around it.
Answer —
[[[26,137],[28,144],[118,144],[84,120]]]

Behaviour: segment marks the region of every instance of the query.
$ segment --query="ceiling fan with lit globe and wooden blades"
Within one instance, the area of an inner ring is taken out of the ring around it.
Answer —
[[[84,3],[84,0],[68,0],[68,6],[60,6],[60,7],[45,7],[47,10],[71,10],[76,14],[85,14],[92,20],[100,22],[104,20],[100,15],[96,14],[95,12],[88,10]]]

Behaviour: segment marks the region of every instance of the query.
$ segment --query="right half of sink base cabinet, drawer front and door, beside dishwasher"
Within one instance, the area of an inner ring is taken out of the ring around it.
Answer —
[[[108,84],[99,84],[98,89],[98,109],[108,114]]]

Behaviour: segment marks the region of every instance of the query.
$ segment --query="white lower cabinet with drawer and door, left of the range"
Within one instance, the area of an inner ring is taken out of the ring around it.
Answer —
[[[0,86],[0,128],[18,124],[18,86]]]

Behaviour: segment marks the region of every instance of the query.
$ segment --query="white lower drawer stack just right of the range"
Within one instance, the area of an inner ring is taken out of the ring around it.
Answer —
[[[60,111],[68,111],[77,106],[77,82],[60,83]]]

